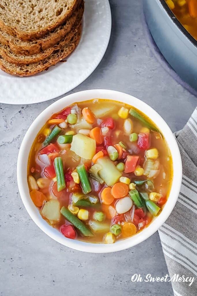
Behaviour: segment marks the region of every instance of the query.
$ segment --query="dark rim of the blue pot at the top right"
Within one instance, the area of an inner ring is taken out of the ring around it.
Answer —
[[[188,38],[195,47],[197,47],[197,40],[183,27],[183,25],[178,20],[178,18],[174,15],[174,13],[170,9],[170,7],[167,5],[165,0],[158,0],[158,1],[161,3],[164,10],[167,12],[167,15],[170,17],[172,22],[174,22],[174,24],[180,29],[183,35],[185,35],[185,37]]]

